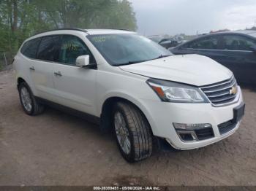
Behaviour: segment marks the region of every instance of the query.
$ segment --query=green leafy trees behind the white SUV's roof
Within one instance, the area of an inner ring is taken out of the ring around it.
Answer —
[[[1,0],[0,52],[10,61],[24,39],[56,28],[136,30],[127,0]]]

